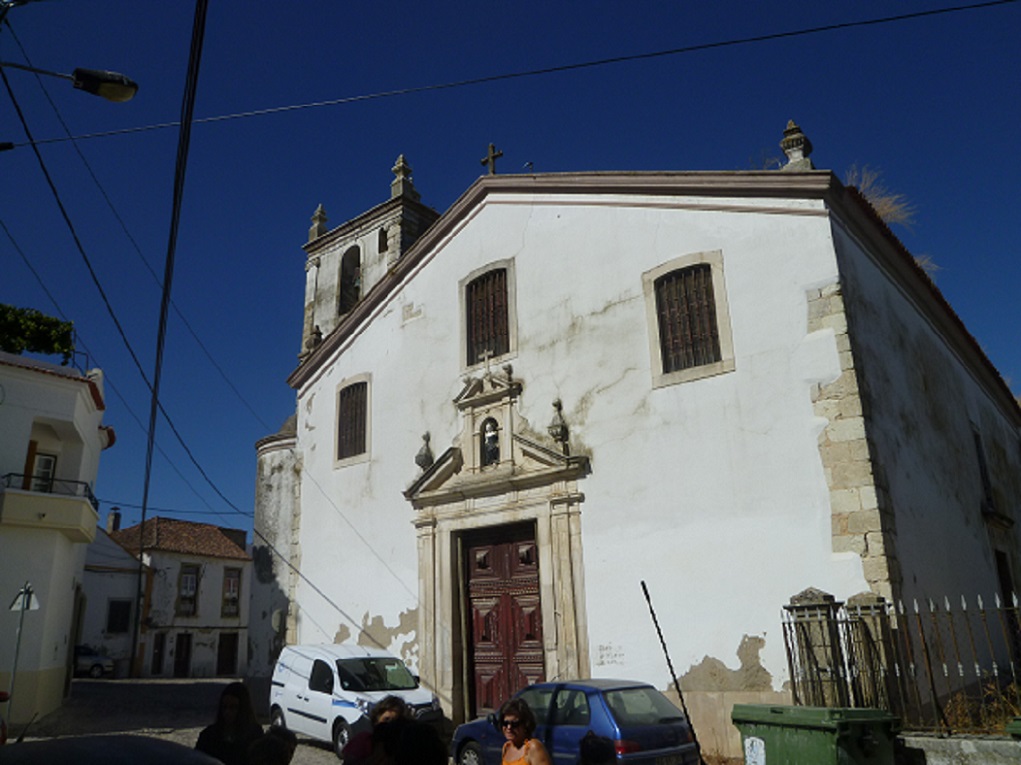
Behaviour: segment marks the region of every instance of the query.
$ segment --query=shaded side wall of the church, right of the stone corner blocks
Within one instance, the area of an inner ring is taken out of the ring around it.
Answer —
[[[1017,407],[998,399],[988,373],[962,361],[858,241],[834,231],[884,527],[876,541],[895,552],[894,594],[991,600],[999,589],[993,545],[1009,556],[1018,583],[1021,537],[1019,527],[983,518],[972,428],[983,440],[996,510],[1016,520]]]

